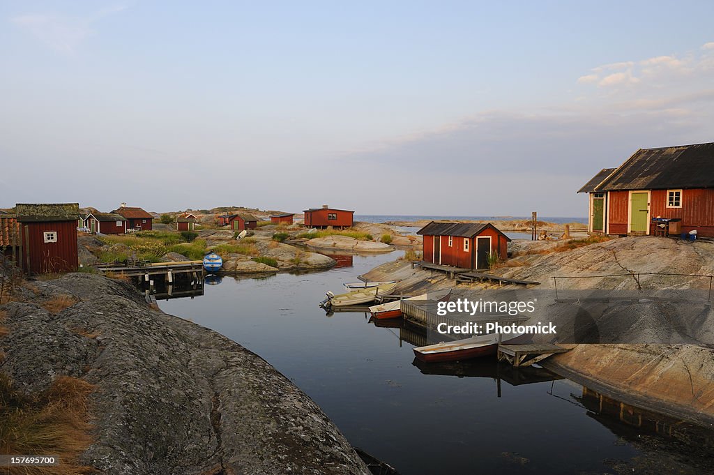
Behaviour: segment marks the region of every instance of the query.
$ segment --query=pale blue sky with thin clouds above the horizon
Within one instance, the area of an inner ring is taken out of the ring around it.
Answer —
[[[710,1],[0,3],[0,206],[585,216],[714,141]]]

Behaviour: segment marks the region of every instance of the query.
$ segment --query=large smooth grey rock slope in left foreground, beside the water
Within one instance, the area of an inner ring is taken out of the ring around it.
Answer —
[[[34,394],[96,385],[84,464],[106,474],[368,474],[321,409],[243,346],[151,308],[128,283],[67,274],[0,310],[0,371]],[[64,309],[44,308],[56,299]],[[59,310],[59,311],[58,311]]]

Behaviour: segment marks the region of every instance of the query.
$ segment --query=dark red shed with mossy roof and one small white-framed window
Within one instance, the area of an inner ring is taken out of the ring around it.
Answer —
[[[23,269],[29,274],[76,271],[79,204],[17,204],[15,209]]]

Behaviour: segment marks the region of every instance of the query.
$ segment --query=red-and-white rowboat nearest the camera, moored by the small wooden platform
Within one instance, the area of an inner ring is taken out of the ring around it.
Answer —
[[[502,344],[526,343],[530,335],[503,335]],[[441,341],[440,343],[414,348],[414,356],[425,363],[436,361],[460,361],[464,359],[491,356],[498,351],[498,334],[475,335],[471,338],[456,341]]]

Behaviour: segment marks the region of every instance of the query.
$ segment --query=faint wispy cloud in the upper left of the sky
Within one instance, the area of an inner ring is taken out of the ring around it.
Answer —
[[[15,16],[11,21],[51,49],[74,54],[83,41],[96,34],[97,21],[124,9],[126,6],[111,6],[86,16],[26,14]]]

